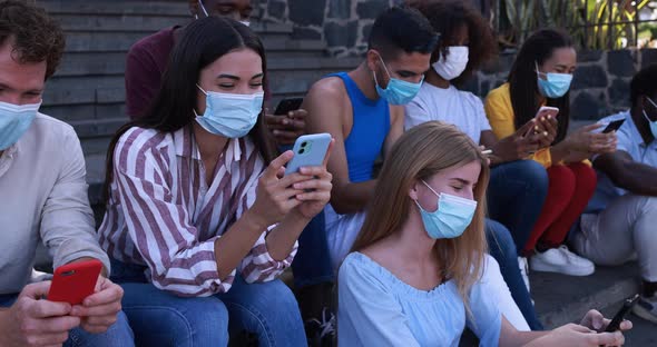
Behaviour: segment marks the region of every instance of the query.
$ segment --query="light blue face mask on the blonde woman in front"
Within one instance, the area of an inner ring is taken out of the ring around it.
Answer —
[[[438,209],[433,212],[425,211],[420,206],[420,202],[415,200],[429,237],[432,239],[448,239],[463,235],[465,228],[472,222],[472,217],[474,217],[477,210],[477,201],[444,192],[438,194],[425,181],[422,182],[438,196]]]

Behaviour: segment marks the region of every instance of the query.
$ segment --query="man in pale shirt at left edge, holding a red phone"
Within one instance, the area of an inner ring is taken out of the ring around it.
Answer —
[[[0,346],[133,346],[122,290],[107,279],[73,129],[40,113],[46,80],[63,52],[61,28],[24,0],[0,0]],[[100,260],[95,294],[81,305],[45,299],[33,281],[42,241],[53,266]]]

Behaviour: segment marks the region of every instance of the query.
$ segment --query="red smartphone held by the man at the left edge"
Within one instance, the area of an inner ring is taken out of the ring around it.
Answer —
[[[96,259],[58,267],[52,276],[48,300],[70,305],[82,304],[86,297],[94,294],[100,269],[102,262]]]

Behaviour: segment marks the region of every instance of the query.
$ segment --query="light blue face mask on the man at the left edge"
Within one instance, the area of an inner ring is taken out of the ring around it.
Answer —
[[[0,150],[13,146],[28,131],[39,107],[41,102],[21,106],[0,102]]]

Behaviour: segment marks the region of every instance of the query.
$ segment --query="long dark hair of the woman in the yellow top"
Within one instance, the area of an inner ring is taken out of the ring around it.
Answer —
[[[572,40],[567,33],[553,29],[539,30],[524,41],[509,73],[516,129],[531,120],[540,108],[536,65],[541,66],[550,59],[556,49],[572,46]],[[553,142],[558,143],[566,138],[568,131],[570,90],[561,98],[548,98],[547,105],[559,108],[559,130]]]

